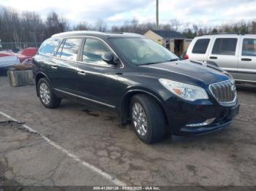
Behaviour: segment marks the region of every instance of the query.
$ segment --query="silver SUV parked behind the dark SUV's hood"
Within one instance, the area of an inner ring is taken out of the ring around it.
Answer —
[[[256,35],[198,36],[189,44],[185,58],[219,66],[236,82],[256,83]]]

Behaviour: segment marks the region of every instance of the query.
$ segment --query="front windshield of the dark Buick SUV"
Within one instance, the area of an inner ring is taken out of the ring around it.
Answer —
[[[165,47],[144,38],[113,38],[113,45],[134,65],[164,63],[178,59]]]

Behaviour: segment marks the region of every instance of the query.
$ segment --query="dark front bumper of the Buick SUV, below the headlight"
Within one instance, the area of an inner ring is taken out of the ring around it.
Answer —
[[[179,136],[201,135],[225,128],[238,115],[240,107],[238,101],[234,106],[221,106],[212,103],[188,104],[186,102],[176,105],[168,101],[165,106],[167,106],[165,113],[170,130],[174,135]],[[204,124],[207,120],[211,123]]]

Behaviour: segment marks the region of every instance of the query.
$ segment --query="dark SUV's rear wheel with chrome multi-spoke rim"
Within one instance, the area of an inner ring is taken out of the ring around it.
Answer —
[[[42,105],[49,109],[56,108],[61,104],[61,99],[54,95],[53,89],[50,87],[50,83],[46,78],[39,79],[37,83],[37,93]]]

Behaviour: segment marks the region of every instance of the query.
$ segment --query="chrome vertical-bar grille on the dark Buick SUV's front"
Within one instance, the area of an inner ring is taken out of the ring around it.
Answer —
[[[236,85],[233,80],[227,80],[210,85],[211,93],[221,104],[236,101]]]

